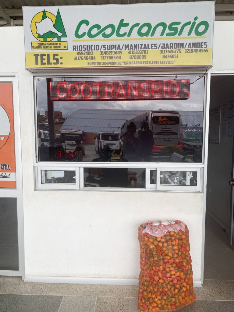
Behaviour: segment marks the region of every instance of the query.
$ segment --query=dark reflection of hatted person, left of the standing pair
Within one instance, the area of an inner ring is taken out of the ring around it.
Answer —
[[[141,139],[135,137],[136,125],[131,121],[126,129],[127,131],[123,135],[124,158],[129,162],[140,162],[142,161],[139,156],[141,151]]]

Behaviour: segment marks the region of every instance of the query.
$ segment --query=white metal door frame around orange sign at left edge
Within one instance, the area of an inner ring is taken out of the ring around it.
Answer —
[[[0,83],[12,84],[14,138],[15,138],[15,165],[16,165],[16,189],[0,188],[0,197],[17,199],[17,230],[18,230],[18,257],[19,270],[0,270],[0,275],[22,276],[24,279],[24,227],[23,227],[23,188],[22,188],[22,158],[21,158],[21,133],[19,89],[17,73],[0,73]]]

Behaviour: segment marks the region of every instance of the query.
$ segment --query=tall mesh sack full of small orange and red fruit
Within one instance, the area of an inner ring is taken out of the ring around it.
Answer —
[[[188,227],[181,221],[139,226],[138,310],[174,311],[195,301]]]

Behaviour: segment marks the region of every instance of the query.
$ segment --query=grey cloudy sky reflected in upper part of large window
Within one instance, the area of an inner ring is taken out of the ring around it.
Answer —
[[[154,77],[105,77],[105,78],[71,78],[66,81],[77,80],[146,80],[148,79],[174,79],[175,76]],[[196,110],[202,111],[204,104],[204,77],[201,76],[178,76],[178,79],[190,79],[190,98],[188,100],[136,100],[136,101],[55,101],[54,110],[61,111],[63,117],[70,116],[78,109],[116,109],[116,110]],[[198,79],[200,78],[200,79]],[[53,78],[53,81],[62,81],[62,77]],[[37,110],[44,115],[47,110],[46,78],[36,79]]]

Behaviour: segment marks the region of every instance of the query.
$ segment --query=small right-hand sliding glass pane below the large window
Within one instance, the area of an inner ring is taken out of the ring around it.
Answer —
[[[161,185],[197,185],[197,172],[191,171],[161,171]]]

